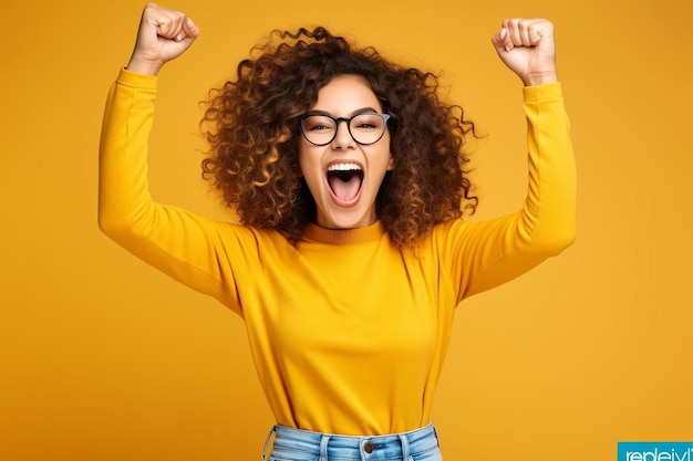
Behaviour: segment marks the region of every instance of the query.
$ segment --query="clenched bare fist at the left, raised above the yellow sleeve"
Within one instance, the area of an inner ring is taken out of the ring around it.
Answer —
[[[183,54],[197,35],[199,29],[185,13],[147,3],[127,70],[157,75],[162,66]]]

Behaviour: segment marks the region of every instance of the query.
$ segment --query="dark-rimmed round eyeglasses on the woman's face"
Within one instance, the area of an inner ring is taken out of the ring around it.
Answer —
[[[385,134],[390,115],[377,113],[356,114],[350,118],[308,114],[299,118],[301,133],[307,142],[327,146],[337,137],[340,122],[346,122],[351,137],[361,145],[377,143]]]

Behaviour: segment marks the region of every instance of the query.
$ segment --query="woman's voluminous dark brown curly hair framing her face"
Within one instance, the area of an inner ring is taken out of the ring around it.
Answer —
[[[394,169],[376,198],[391,241],[414,248],[433,227],[474,213],[464,153],[474,123],[438,96],[438,76],[354,49],[319,27],[273,31],[237,66],[235,81],[213,88],[200,122],[210,145],[203,177],[240,222],[273,229],[298,244],[316,202],[298,167],[298,118],[334,76],[363,76],[390,114]]]

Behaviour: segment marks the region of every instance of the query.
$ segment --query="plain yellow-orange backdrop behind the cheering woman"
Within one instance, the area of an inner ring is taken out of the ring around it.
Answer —
[[[269,30],[319,23],[444,70],[451,96],[489,135],[474,156],[478,217],[515,210],[520,83],[489,36],[507,15],[552,19],[578,156],[578,240],[457,312],[434,409],[443,452],[610,461],[618,441],[693,440],[691,2],[168,4],[203,34],[161,77],[152,189],[218,217],[199,178],[197,103]],[[272,423],[242,322],[96,228],[103,103],[142,7],[2,0],[3,461],[255,460]]]

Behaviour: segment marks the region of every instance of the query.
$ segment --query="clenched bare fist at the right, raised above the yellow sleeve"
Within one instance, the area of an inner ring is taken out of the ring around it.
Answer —
[[[526,86],[558,82],[554,24],[546,19],[506,19],[492,38],[498,56]]]

